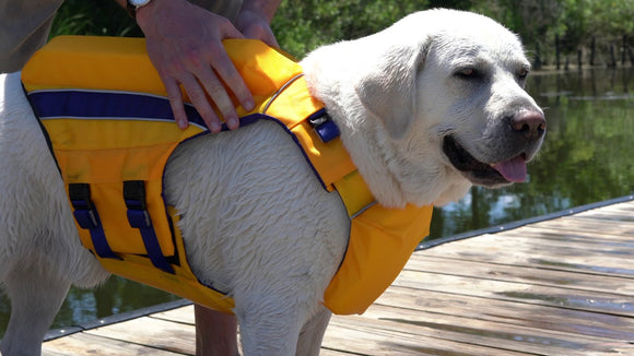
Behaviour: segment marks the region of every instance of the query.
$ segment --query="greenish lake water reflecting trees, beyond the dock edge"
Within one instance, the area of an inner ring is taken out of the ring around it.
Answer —
[[[532,75],[528,92],[545,108],[548,133],[529,164],[529,182],[471,189],[436,209],[430,238],[559,212],[634,192],[634,69]],[[71,289],[54,329],[178,299],[118,277],[92,290]],[[9,320],[0,299],[0,333]]]

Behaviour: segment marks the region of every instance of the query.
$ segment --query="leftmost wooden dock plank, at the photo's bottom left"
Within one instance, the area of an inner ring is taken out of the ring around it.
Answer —
[[[183,354],[163,351],[160,348],[149,347],[139,344],[131,344],[119,340],[101,337],[86,333],[75,333],[45,343],[42,349],[42,355],[43,356],[73,356],[73,355],[176,356]]]

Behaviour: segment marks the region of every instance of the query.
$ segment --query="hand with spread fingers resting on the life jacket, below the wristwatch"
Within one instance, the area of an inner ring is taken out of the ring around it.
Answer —
[[[165,85],[178,127],[189,124],[181,84],[212,132],[221,131],[221,120],[211,103],[227,127],[237,129],[238,116],[228,92],[246,110],[255,104],[222,40],[243,38],[243,34],[227,19],[186,0],[153,0],[137,11],[137,23],[145,34],[148,55]]]

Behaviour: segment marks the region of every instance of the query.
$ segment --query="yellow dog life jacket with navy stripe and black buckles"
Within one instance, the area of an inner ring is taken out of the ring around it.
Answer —
[[[432,206],[375,203],[302,68],[257,40],[225,40],[256,100],[242,124],[274,120],[304,151],[324,188],[351,217],[349,246],[325,292],[340,315],[362,313],[391,284],[428,234]],[[232,312],[234,301],[191,272],[178,213],[163,199],[163,171],[176,146],[208,132],[198,112],[179,130],[141,38],[60,36],[22,72],[52,146],[82,244],[114,274]],[[184,93],[185,94],[185,93]]]

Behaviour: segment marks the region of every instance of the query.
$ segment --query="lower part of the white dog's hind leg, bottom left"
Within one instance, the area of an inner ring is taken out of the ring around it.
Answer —
[[[4,290],[11,299],[11,319],[0,343],[2,356],[42,353],[44,335],[70,287],[70,281],[59,275],[57,269],[42,263],[44,261],[35,261],[24,258],[23,262],[14,264],[3,281]]]

